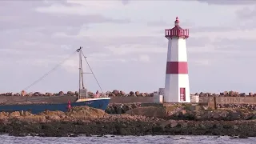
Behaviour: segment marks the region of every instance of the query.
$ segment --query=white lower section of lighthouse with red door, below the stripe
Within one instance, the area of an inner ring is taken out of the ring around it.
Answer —
[[[188,74],[166,74],[164,102],[190,102]]]

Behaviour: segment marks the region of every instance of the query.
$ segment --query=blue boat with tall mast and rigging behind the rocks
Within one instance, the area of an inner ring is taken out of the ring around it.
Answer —
[[[78,90],[78,99],[75,102],[70,102],[68,100],[67,102],[58,102],[58,103],[28,103],[28,102],[6,102],[0,104],[0,111],[5,111],[5,112],[13,112],[13,111],[29,111],[31,114],[38,114],[41,113],[45,110],[60,110],[63,112],[66,112],[70,110],[73,106],[89,106],[93,107],[96,109],[101,109],[101,110],[106,110],[106,107],[108,106],[110,102],[110,98],[106,97],[106,94],[103,93],[100,96],[100,94],[97,92],[94,95],[94,98],[88,98],[88,92],[86,87],[84,86],[84,78],[83,74],[93,74],[92,69],[90,68],[89,62],[86,60],[85,54],[82,52],[82,46],[74,53],[79,54],[79,90]],[[85,58],[87,65],[90,68],[91,73],[84,73],[82,70],[82,57]],[[56,67],[54,67],[55,69]],[[53,70],[54,70],[53,69]],[[52,70],[50,70],[52,71]],[[47,73],[49,74],[49,73]],[[45,74],[43,77],[45,77],[47,74]],[[42,78],[43,78],[42,77]],[[36,82],[39,82],[42,78],[39,78]],[[94,78],[96,82],[98,82],[97,78],[94,75]],[[32,83],[33,86],[36,82]],[[26,87],[28,89],[30,86]],[[102,90],[102,87],[99,85],[100,89]],[[48,97],[48,98],[61,98],[62,96],[53,96],[53,97]],[[16,102],[16,103],[15,103]]]

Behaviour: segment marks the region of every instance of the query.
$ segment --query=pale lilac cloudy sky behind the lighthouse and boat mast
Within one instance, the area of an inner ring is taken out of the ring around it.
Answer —
[[[103,91],[158,90],[166,77],[164,30],[174,27],[177,16],[182,28],[190,29],[186,46],[192,94],[255,93],[255,4],[253,0],[2,0],[0,93],[78,90],[74,51],[79,46]],[[84,71],[90,72],[83,62]],[[85,75],[85,82],[88,90],[100,90],[92,74]]]

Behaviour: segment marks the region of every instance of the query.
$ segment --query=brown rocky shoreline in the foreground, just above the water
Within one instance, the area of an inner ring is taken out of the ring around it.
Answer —
[[[126,114],[106,114],[88,106],[69,112],[0,113],[0,134],[75,137],[98,135],[229,135],[256,137],[256,111],[186,110],[186,106],[137,107]]]

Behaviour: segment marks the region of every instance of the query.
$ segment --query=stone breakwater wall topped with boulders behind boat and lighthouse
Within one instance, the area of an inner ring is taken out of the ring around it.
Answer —
[[[92,97],[94,93],[89,92],[89,97]],[[220,94],[212,93],[196,93],[191,94],[199,96],[199,102],[214,102],[214,97],[218,104],[256,104],[256,94],[253,93],[238,93],[236,91],[224,91]],[[154,102],[153,93],[142,93],[138,91],[130,91],[128,94],[122,90],[107,91],[105,97],[110,97],[110,103],[150,103]],[[78,92],[68,91],[64,93],[60,91],[58,93],[5,93],[0,94],[0,102],[75,102],[78,99]]]

